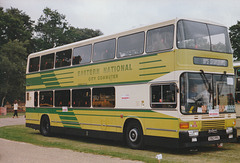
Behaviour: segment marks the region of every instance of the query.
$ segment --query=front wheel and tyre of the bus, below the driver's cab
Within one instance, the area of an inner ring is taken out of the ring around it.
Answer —
[[[127,145],[132,149],[143,148],[143,131],[139,122],[129,122],[126,128],[125,139]]]

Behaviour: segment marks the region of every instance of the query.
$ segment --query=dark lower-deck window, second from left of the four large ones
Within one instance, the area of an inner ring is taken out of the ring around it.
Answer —
[[[55,91],[55,106],[70,106],[70,90]]]

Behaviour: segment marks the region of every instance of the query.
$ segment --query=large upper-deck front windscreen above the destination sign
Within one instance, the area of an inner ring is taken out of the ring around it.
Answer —
[[[187,20],[178,22],[177,46],[182,49],[232,53],[226,27]]]

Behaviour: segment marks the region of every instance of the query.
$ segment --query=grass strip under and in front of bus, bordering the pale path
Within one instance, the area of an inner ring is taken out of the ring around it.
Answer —
[[[39,131],[26,128],[23,125],[5,126],[0,128],[0,137],[9,140],[27,142],[44,147],[70,149],[78,152],[93,153],[119,157],[122,159],[139,160],[143,162],[158,162],[157,154],[163,155],[161,163],[168,162],[238,162],[240,144],[227,143],[222,148],[214,146],[201,147],[198,151],[170,150],[148,146],[144,150],[133,150],[115,142],[86,137],[55,135],[44,137]]]

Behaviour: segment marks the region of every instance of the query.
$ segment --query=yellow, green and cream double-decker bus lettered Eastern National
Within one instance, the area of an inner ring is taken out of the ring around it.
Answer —
[[[145,144],[193,147],[236,140],[226,27],[174,19],[33,53],[26,126]]]

